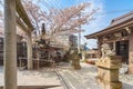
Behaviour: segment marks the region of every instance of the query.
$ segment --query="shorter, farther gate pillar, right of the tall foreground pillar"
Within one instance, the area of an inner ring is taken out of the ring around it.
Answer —
[[[28,69],[32,69],[33,63],[32,63],[32,36],[31,36],[31,32],[28,33],[27,48],[28,48]]]

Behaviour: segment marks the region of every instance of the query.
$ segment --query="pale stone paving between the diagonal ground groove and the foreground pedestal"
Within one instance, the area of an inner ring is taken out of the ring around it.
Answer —
[[[60,69],[59,72],[69,85],[70,89],[100,89],[95,77],[96,67],[82,63],[82,69],[74,70],[71,66],[65,69]],[[70,68],[69,68],[70,67]]]

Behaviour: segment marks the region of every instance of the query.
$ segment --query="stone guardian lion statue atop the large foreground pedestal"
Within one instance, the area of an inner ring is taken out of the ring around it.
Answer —
[[[101,46],[101,51],[102,51],[102,58],[115,55],[114,50],[111,50],[108,43],[103,43]]]

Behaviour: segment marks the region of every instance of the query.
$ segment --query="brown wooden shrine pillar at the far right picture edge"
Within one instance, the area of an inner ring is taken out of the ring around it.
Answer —
[[[129,73],[133,73],[133,33],[129,39]]]

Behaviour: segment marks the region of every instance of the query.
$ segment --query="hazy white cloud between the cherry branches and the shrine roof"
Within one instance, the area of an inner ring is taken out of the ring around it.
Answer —
[[[90,22],[89,26],[86,26],[85,28],[88,29],[85,32],[89,33],[93,33],[95,31],[102,30],[103,27],[105,26],[105,14],[101,14],[101,13],[105,13],[104,10],[104,4],[103,4],[103,0],[90,0],[92,2],[91,9],[96,9],[99,8],[100,10],[95,13],[93,21]]]

